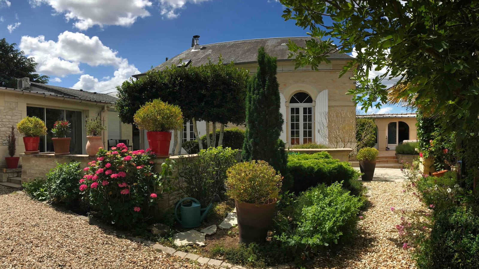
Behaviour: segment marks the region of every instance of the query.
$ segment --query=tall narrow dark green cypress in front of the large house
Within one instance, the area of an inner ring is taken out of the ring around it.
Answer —
[[[285,144],[279,140],[283,115],[276,79],[276,58],[258,50],[258,70],[248,82],[243,160],[264,160],[286,174]]]

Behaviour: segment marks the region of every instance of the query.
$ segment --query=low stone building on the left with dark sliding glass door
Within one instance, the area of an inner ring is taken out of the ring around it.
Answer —
[[[108,146],[107,139],[129,139],[132,145],[132,126],[122,124],[114,111],[116,97],[108,94],[74,90],[47,84],[30,82],[28,78],[18,80],[17,89],[0,87],[0,166],[8,157],[7,136],[11,126],[15,126],[26,116],[36,116],[46,123],[50,130],[57,120],[68,120],[71,123],[71,154],[85,154],[86,118],[100,116],[106,130],[103,132],[103,143]],[[22,136],[17,133],[16,155],[23,153]],[[51,133],[40,138],[40,152],[53,151]]]

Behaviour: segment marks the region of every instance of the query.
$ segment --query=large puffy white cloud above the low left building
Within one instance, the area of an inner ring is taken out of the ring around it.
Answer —
[[[69,74],[81,74],[80,64],[92,67],[113,66],[113,77],[102,80],[91,75],[81,75],[72,88],[98,91],[101,88],[114,88],[131,75],[139,73],[128,60],[117,56],[118,52],[103,45],[97,36],[89,37],[82,33],[65,31],[58,35],[57,42],[45,40],[45,36],[22,36],[20,49],[38,63],[37,71],[41,74],[64,77]],[[105,89],[106,90],[106,89]]]

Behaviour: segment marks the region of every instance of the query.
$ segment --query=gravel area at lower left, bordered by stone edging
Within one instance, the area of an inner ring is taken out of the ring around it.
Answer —
[[[214,268],[117,237],[4,186],[0,238],[2,269]]]

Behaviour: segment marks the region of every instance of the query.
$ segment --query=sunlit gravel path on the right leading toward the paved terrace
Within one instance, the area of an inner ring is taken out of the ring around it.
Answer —
[[[384,168],[386,169],[386,168]],[[384,170],[383,169],[383,170]],[[388,174],[387,170],[381,174]],[[388,169],[399,170],[399,169]],[[400,223],[400,216],[391,212],[396,209],[420,209],[421,203],[414,196],[403,193],[402,180],[396,179],[398,171],[391,171],[391,179],[376,178],[364,182],[368,188],[370,206],[363,212],[359,221],[359,235],[351,246],[344,247],[336,255],[318,258],[314,264],[319,269],[413,269],[410,250],[402,249],[395,228]],[[379,181],[380,180],[380,181]],[[393,181],[394,180],[394,181]]]

